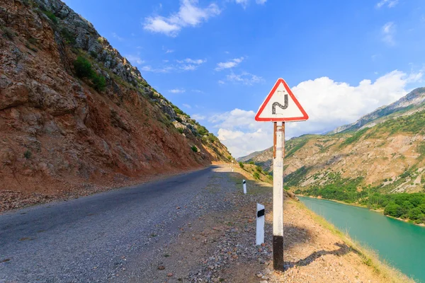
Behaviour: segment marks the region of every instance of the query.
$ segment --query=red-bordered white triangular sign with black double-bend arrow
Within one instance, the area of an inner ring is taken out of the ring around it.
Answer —
[[[260,122],[292,122],[307,119],[307,113],[283,79],[276,81],[255,115],[255,120]]]

